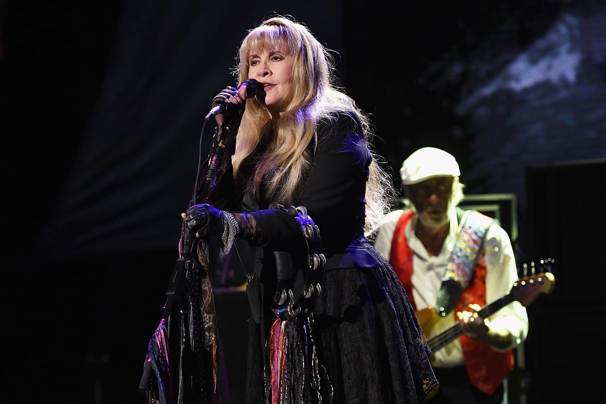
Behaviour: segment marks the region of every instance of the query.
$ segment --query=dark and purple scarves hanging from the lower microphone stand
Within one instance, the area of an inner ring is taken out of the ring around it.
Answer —
[[[173,273],[185,277],[184,285],[169,299],[170,314],[149,342],[144,364],[152,365],[153,375],[144,366],[139,386],[148,404],[229,402],[213,290],[202,263],[208,265],[201,260],[190,270]]]

